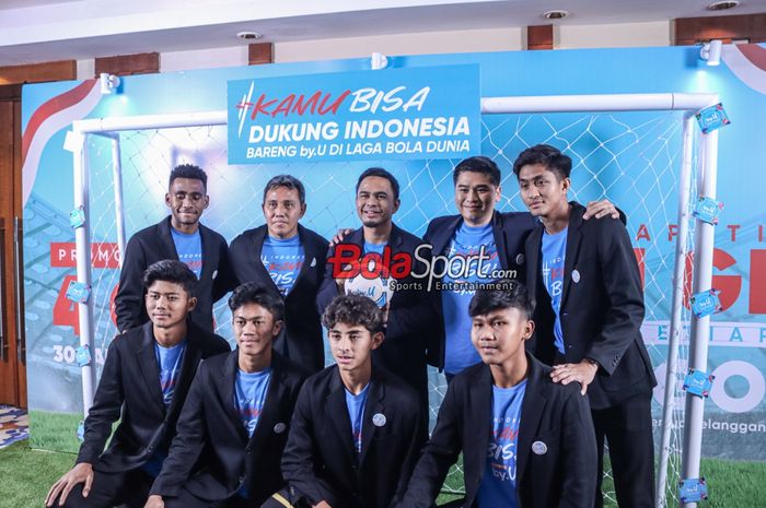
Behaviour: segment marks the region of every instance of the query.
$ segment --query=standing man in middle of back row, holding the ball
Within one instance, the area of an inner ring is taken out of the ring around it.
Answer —
[[[357,180],[356,204],[362,227],[351,232],[341,244],[329,251],[325,279],[316,298],[321,312],[324,312],[336,296],[346,293],[346,283],[349,280],[338,276],[337,272],[343,270],[347,261],[336,259],[339,249],[350,246],[357,249],[360,257],[378,252],[384,259],[385,249],[390,249],[392,259],[399,253],[414,259],[415,250],[422,245],[420,238],[393,223],[393,215],[399,209],[399,184],[391,173],[380,167],[363,172]],[[414,271],[423,271],[415,262],[413,268]],[[411,274],[397,282],[407,288],[396,291],[391,300],[386,302],[383,308],[385,342],[374,351],[373,356],[378,365],[402,377],[415,388],[423,410],[427,411],[426,348],[436,312],[432,299],[425,288],[416,287],[417,283]],[[428,425],[428,422],[423,425]]]

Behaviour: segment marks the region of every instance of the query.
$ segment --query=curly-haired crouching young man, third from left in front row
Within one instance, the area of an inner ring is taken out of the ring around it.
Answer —
[[[415,390],[372,362],[384,338],[383,316],[370,298],[338,296],[322,322],[336,365],[309,378],[298,398],[282,458],[289,489],[279,500],[386,508],[407,486],[426,415]]]

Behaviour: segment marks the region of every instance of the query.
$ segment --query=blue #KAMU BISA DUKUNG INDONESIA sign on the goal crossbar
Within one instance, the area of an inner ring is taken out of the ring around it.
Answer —
[[[478,66],[230,81],[228,102],[230,164],[479,150]]]

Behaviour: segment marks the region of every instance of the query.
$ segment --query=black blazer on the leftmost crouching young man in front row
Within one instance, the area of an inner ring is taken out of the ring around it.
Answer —
[[[229,343],[188,322],[186,351],[167,409],[160,388],[151,321],[117,335],[101,374],[77,463],[113,473],[142,465],[154,451],[166,452],[200,359],[229,351]],[[112,434],[112,424],[121,421]],[[103,453],[102,453],[103,452]]]

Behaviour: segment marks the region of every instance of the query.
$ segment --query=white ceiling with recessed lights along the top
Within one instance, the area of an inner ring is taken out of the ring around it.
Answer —
[[[712,0],[0,0],[0,66],[146,51],[229,47],[255,31],[282,43],[546,24],[668,21],[719,15]],[[766,12],[742,0],[726,14]]]

